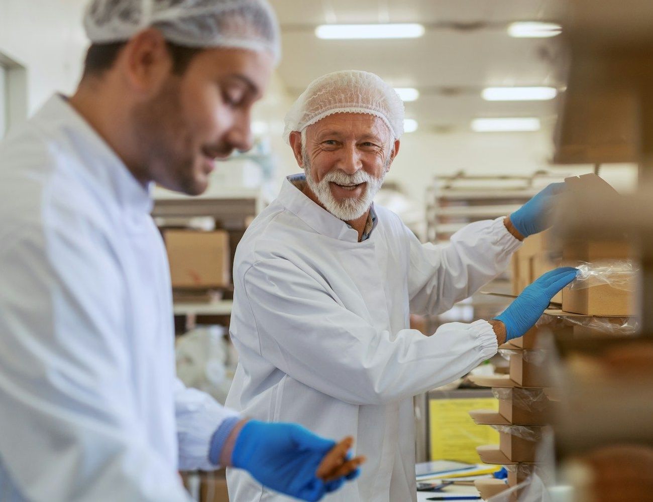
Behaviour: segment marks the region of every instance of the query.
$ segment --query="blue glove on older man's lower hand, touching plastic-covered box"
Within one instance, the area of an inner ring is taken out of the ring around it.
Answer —
[[[527,286],[501,315],[494,317],[505,324],[505,341],[524,335],[549,307],[551,298],[575,279],[577,268],[550,270]]]

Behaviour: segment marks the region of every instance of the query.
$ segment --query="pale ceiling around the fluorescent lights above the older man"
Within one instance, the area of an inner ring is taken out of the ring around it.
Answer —
[[[475,117],[535,116],[552,121],[554,102],[486,102],[487,86],[560,86],[553,66],[560,42],[512,39],[515,21],[560,18],[546,0],[270,0],[279,17],[281,80],[293,99],[313,80],[342,69],[371,71],[394,87],[417,87],[406,117],[422,131],[468,130]],[[320,40],[319,24],[419,22],[426,34],[404,40]],[[559,38],[559,37],[558,37]]]

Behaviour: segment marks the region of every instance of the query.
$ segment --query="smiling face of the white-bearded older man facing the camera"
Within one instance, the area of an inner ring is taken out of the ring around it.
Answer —
[[[385,122],[371,114],[333,114],[290,140],[312,195],[343,221],[369,210],[399,148]]]

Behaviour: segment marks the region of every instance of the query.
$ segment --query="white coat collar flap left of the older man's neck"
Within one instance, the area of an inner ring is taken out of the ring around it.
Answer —
[[[293,181],[299,180],[300,177],[303,178],[304,175],[293,174],[283,180],[281,192],[277,198],[278,202],[319,234],[346,242],[358,243],[358,232],[356,230],[315,204],[293,185]]]

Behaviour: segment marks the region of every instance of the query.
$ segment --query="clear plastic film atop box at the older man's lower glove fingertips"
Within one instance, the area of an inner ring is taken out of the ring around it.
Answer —
[[[579,274],[569,285],[569,289],[609,285],[615,289],[633,291],[635,290],[635,275],[639,272],[639,266],[631,260],[580,262],[576,268],[579,270]]]

